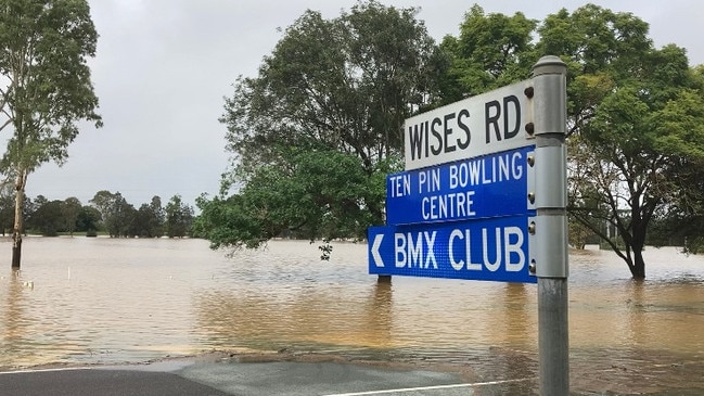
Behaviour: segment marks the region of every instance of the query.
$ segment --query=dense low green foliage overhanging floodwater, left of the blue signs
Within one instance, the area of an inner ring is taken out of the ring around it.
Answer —
[[[276,237],[363,239],[368,227],[383,221],[368,208],[386,196],[392,163],[380,163],[370,176],[359,157],[334,150],[285,155],[287,167],[259,168],[239,193],[201,197],[196,234],[214,248],[254,248]]]

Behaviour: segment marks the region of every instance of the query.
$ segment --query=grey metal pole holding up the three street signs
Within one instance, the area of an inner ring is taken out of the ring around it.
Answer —
[[[558,56],[533,66],[536,276],[540,395],[569,394],[567,329],[566,74]]]

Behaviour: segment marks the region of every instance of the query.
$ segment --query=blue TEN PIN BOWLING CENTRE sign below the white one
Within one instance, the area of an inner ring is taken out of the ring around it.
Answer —
[[[534,215],[525,146],[386,177],[386,222],[411,225]]]

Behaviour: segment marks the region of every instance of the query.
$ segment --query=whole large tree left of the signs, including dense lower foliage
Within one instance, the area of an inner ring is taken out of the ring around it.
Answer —
[[[223,196],[200,201],[208,217],[202,223],[217,227],[208,238],[254,247],[281,233],[359,237],[383,222],[385,195],[364,190],[374,182],[383,191],[379,173],[399,163],[402,123],[438,99],[444,66],[413,9],[368,1],[333,20],[305,12],[258,76],[241,77],[226,101],[221,122],[235,166]],[[310,169],[327,181],[304,174]],[[226,197],[231,188],[239,193]],[[226,214],[238,221],[219,217]],[[346,223],[325,226],[335,221]]]

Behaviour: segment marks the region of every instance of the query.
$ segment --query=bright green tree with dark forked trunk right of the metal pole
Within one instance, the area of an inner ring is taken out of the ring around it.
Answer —
[[[583,154],[580,171],[571,174],[577,186],[571,213],[611,245],[635,279],[644,279],[648,227],[691,190],[680,164],[704,157],[704,91],[684,50],[654,49],[648,24],[632,14],[597,5],[562,10],[539,33],[538,47],[563,54],[569,68],[572,148]]]

